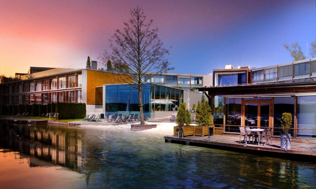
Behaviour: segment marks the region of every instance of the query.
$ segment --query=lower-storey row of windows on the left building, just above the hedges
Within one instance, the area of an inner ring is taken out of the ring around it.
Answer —
[[[42,94],[28,94],[28,95],[15,95],[4,97],[5,104],[47,104],[59,102],[82,102],[82,92],[77,91],[62,91],[53,93]]]

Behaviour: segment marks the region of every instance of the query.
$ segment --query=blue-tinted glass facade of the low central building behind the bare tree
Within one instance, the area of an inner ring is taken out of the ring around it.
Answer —
[[[144,84],[143,110],[145,117],[153,117],[154,111],[172,111],[183,102],[183,90]],[[128,85],[106,85],[106,114],[139,114],[138,90]]]

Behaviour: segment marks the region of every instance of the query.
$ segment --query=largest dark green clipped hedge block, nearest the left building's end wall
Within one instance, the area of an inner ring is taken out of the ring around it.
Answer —
[[[85,103],[57,102],[56,113],[59,119],[75,119],[86,116]]]

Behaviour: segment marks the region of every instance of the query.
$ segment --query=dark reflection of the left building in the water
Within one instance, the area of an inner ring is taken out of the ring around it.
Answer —
[[[84,130],[47,125],[27,126],[0,123],[0,148],[29,155],[30,166],[41,165],[37,159],[71,169],[82,166]]]

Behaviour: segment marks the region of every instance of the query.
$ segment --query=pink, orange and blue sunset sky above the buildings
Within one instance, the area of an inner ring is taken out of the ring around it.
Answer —
[[[90,49],[97,60],[137,5],[159,27],[165,47],[172,46],[175,73],[285,63],[292,58],[284,43],[298,42],[306,54],[316,39],[315,0],[0,0],[0,75],[30,66],[84,67]]]

